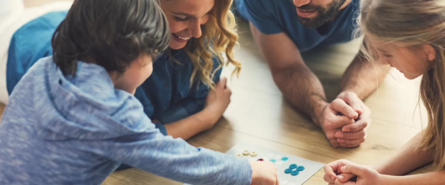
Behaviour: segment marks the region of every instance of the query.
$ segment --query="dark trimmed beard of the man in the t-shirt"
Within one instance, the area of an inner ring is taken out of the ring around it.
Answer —
[[[306,11],[316,11],[318,12],[318,15],[313,18],[304,18],[298,16],[298,20],[301,24],[309,27],[309,28],[318,28],[321,25],[325,24],[329,20],[334,19],[338,13],[340,12],[340,7],[346,2],[346,0],[333,0],[331,3],[328,4],[328,6],[322,7],[320,5],[313,5],[313,4],[305,4],[299,8],[300,10],[306,10]]]

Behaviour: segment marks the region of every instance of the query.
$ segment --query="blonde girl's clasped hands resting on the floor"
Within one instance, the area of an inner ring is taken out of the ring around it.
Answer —
[[[328,185],[377,185],[382,177],[374,169],[344,159],[324,166],[324,173]],[[357,177],[356,181],[350,181],[354,177]]]

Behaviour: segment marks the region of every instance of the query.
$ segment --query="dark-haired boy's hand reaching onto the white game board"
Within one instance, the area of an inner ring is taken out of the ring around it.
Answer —
[[[251,185],[279,185],[275,165],[270,161],[252,161]]]

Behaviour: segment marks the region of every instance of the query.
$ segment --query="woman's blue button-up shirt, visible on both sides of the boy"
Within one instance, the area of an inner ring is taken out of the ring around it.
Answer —
[[[7,82],[8,93],[14,89],[22,76],[37,60],[52,55],[51,38],[57,26],[65,19],[67,12],[50,12],[25,24],[12,36],[8,51]],[[170,59],[164,52],[153,63],[153,74],[136,90],[135,96],[142,102],[145,113],[161,123],[156,126],[163,134],[171,122],[187,118],[204,108],[209,88],[199,80],[190,87],[193,65],[185,51],[172,50]],[[213,59],[214,69],[219,60]],[[221,75],[216,71],[213,81]],[[198,75],[197,75],[198,76]]]

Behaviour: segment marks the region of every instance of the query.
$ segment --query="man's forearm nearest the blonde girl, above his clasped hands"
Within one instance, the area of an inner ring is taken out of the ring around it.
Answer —
[[[344,72],[341,92],[354,92],[363,100],[383,83],[390,67],[367,61],[359,55]]]

